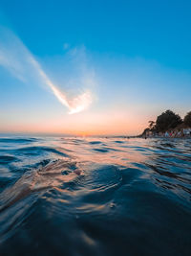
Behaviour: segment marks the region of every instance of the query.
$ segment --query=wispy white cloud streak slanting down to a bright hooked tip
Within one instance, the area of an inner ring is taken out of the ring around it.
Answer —
[[[23,42],[6,28],[0,27],[0,65],[11,72],[11,75],[20,81],[27,82],[33,76],[39,83],[47,85],[53,95],[62,104],[68,107],[69,113],[73,114],[86,109],[93,101],[90,89],[87,89],[89,78],[84,78],[85,89],[80,94],[70,97],[66,91],[61,90],[45,73],[40,63],[32,56]],[[68,48],[65,45],[65,49]],[[76,54],[76,49],[75,49]],[[74,52],[72,55],[74,55]],[[91,83],[92,80],[89,80]],[[90,84],[91,85],[91,84]]]

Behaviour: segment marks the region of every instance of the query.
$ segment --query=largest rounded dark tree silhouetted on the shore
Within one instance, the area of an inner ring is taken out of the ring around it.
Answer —
[[[182,123],[180,115],[175,114],[171,110],[166,110],[161,113],[156,121],[156,129],[157,131],[166,131],[170,128],[176,128]]]

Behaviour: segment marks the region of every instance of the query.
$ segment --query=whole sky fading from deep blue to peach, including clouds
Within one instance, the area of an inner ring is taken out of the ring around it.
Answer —
[[[133,135],[191,110],[190,1],[0,1],[0,132]]]

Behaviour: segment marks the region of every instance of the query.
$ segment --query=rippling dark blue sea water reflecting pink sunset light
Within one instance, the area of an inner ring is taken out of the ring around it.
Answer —
[[[191,140],[0,137],[0,255],[191,255]]]

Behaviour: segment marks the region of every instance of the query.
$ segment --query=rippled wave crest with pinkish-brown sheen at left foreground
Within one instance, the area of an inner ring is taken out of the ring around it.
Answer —
[[[69,170],[70,175],[64,171]],[[39,170],[32,170],[25,173],[16,183],[0,194],[0,212],[10,207],[22,198],[26,198],[33,192],[57,187],[63,182],[69,182],[76,175],[80,175],[81,170],[77,168],[75,162],[56,160]]]

